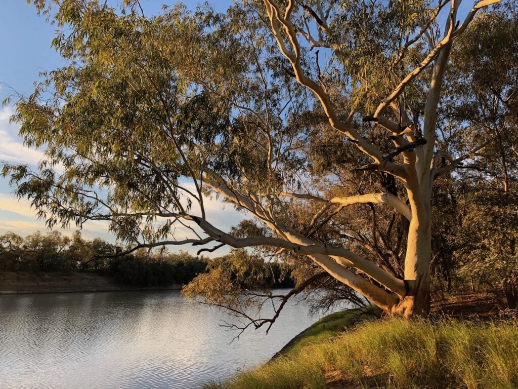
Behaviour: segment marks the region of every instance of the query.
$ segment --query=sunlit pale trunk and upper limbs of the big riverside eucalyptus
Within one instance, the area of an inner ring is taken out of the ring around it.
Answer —
[[[316,98],[318,98],[322,104],[322,108],[327,116],[330,126],[348,136],[356,144],[359,150],[372,158],[375,162],[372,165],[375,166],[375,168],[379,171],[384,171],[396,176],[407,188],[410,209],[400,199],[389,195],[388,193],[371,193],[370,195],[362,196],[336,197],[328,201],[329,203],[339,203],[342,206],[358,202],[386,203],[394,207],[394,209],[399,211],[410,221],[404,266],[405,290],[403,293],[401,293],[401,290],[398,288],[398,283],[395,280],[392,280],[391,277],[387,277],[383,272],[380,272],[379,267],[377,266],[366,266],[363,258],[355,258],[351,255],[342,256],[340,254],[335,255],[334,253],[326,253],[332,256],[333,259],[344,267],[355,267],[356,269],[365,272],[369,277],[380,282],[387,289],[395,292],[398,295],[397,303],[393,304],[392,308],[390,308],[391,303],[387,304],[383,301],[380,301],[379,303],[381,304],[380,307],[389,313],[411,317],[416,315],[426,315],[429,312],[431,191],[433,178],[435,176],[433,160],[436,140],[437,108],[441,98],[444,72],[448,63],[452,41],[466,30],[468,24],[473,20],[475,13],[479,9],[498,3],[499,1],[500,0],[483,0],[477,3],[468,12],[463,23],[459,25],[456,23],[456,16],[461,0],[452,0],[450,15],[445,26],[442,39],[438,43],[433,44],[433,47],[430,48],[430,52],[418,66],[410,71],[405,77],[396,81],[397,86],[394,90],[380,102],[373,115],[373,120],[389,132],[393,133],[394,143],[396,146],[402,147],[408,145],[408,142],[415,142],[416,139],[422,135],[418,133],[414,134],[413,131],[415,129],[405,131],[407,126],[411,126],[412,120],[406,118],[406,108],[398,106],[400,103],[396,103],[396,99],[401,96],[405,88],[410,85],[411,82],[425,70],[425,68],[429,65],[432,66],[431,82],[426,96],[423,118],[423,135],[426,142],[422,144],[422,147],[419,147],[416,150],[410,148],[400,149],[404,159],[404,163],[400,165],[394,163],[392,158],[385,158],[377,147],[368,142],[353,128],[352,117],[354,111],[351,111],[346,121],[340,120],[325,88],[305,74],[303,67],[301,66],[301,49],[298,42],[298,35],[300,35],[298,31],[300,31],[300,29],[290,20],[291,13],[295,7],[295,2],[290,0],[284,9],[284,12],[282,12],[281,7],[279,6],[280,2],[276,2],[275,0],[263,0],[270,22],[271,32],[278,43],[280,52],[291,63],[295,78],[299,84],[307,87],[315,94]],[[439,7],[439,9],[440,8],[442,8],[442,6]],[[439,10],[436,11],[435,17],[438,16],[438,13]],[[428,23],[431,23],[431,21]],[[324,29],[321,23],[319,23],[319,26]],[[418,33],[417,38],[413,41],[415,42],[418,40],[419,36],[424,34],[425,30],[426,29],[422,29],[422,31]],[[326,30],[324,29],[324,31]],[[305,34],[301,35],[306,36]],[[309,41],[309,43],[312,44],[312,41]],[[406,50],[408,47],[405,47],[404,49]],[[400,53],[398,55],[397,61],[402,58],[402,55],[404,54]],[[386,119],[383,116],[383,111],[387,107],[392,107],[396,114],[401,118],[400,120],[402,120],[402,122],[396,124]],[[405,124],[404,127],[400,126],[402,123]],[[413,123],[412,125],[417,126],[418,124]],[[273,225],[274,230],[277,230],[280,234],[284,234],[288,240],[292,242],[300,242],[301,244],[309,243],[306,242],[307,238],[293,234],[291,231],[280,231],[279,227],[275,226],[275,223]],[[313,256],[313,259],[314,258],[315,257]],[[314,260],[316,261],[316,259]],[[351,284],[350,281],[344,281],[344,283],[347,285]],[[359,284],[356,284],[355,287],[355,290],[357,290],[358,293],[361,293],[366,297],[371,293],[371,288],[366,285],[359,286]],[[365,289],[362,290],[362,288]],[[377,299],[382,300],[380,296],[382,296],[382,293],[377,293],[376,296],[373,296],[372,301],[378,304]],[[370,299],[371,297],[368,298]]]

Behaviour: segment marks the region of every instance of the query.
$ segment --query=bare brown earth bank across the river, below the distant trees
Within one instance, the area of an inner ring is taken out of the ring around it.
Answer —
[[[90,273],[59,272],[0,274],[0,295],[80,293],[131,290],[181,290],[181,285],[136,287],[122,285],[112,277]]]

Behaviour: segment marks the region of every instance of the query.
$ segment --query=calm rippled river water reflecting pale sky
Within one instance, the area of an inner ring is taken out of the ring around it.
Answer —
[[[270,333],[178,291],[0,296],[0,388],[194,388],[264,363],[316,317],[292,302]]]

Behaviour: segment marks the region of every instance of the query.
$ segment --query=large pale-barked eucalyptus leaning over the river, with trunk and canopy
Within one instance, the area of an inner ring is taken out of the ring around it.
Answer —
[[[497,2],[458,22],[458,0],[246,0],[153,17],[137,1],[35,1],[67,65],[13,116],[48,160],[4,175],[49,226],[106,220],[135,248],[253,247],[305,274],[301,287],[321,272],[389,314],[427,314],[434,178],[484,146],[436,148],[445,70]],[[252,219],[222,231],[209,196]],[[215,300],[208,290],[190,293]]]

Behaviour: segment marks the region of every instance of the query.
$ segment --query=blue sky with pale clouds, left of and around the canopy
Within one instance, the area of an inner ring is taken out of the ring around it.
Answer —
[[[116,5],[120,0],[111,1]],[[147,15],[160,12],[162,4],[174,4],[165,0],[141,0],[143,9]],[[185,1],[189,7],[194,8],[200,2],[195,0]],[[231,4],[229,0],[209,1],[218,11],[224,11]],[[25,0],[0,0],[0,100],[11,96],[13,92],[28,95],[33,91],[33,82],[38,80],[38,73],[44,70],[52,70],[63,64],[60,56],[50,48],[56,27],[46,23],[45,17],[38,17],[36,9],[27,5]],[[13,102],[16,100],[12,99]],[[18,137],[18,126],[9,124],[9,116],[13,113],[13,107],[0,108],[0,161],[22,162],[36,165],[42,158],[42,152],[28,149],[23,146]],[[37,230],[45,231],[45,223],[34,216],[27,200],[17,200],[12,195],[13,189],[9,187],[8,180],[0,178],[0,234],[13,231],[22,236]],[[213,220],[218,220],[218,227],[228,229],[242,218],[229,204],[224,205],[212,201],[208,204],[208,214]],[[62,230],[71,234],[75,229]],[[82,230],[86,239],[101,237],[114,242],[106,225],[100,222],[86,224]],[[185,236],[179,235],[178,239]],[[196,249],[186,246],[181,247],[194,253]],[[214,255],[221,255],[224,251],[218,251]]]

